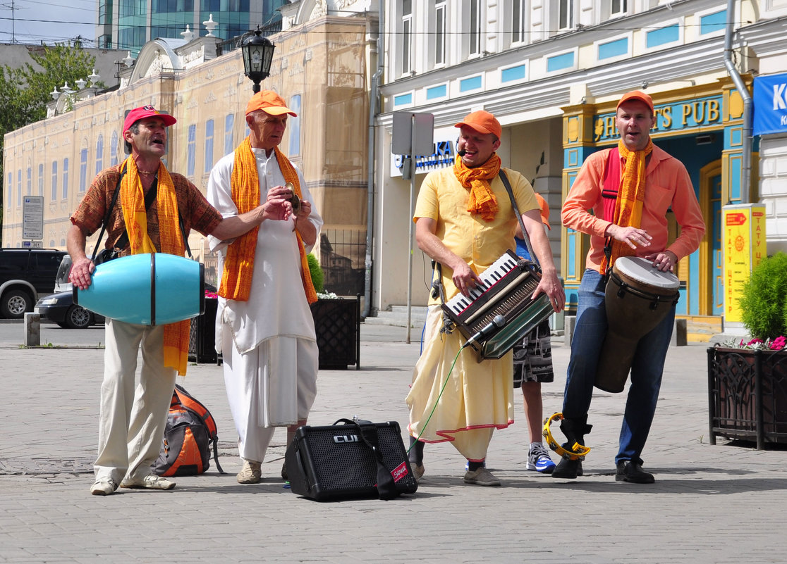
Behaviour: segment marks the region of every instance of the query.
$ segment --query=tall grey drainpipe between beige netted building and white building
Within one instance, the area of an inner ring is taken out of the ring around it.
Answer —
[[[364,311],[361,317],[369,316],[371,311],[371,245],[373,241],[375,226],[375,119],[377,115],[377,101],[379,98],[379,82],[382,76],[382,49],[385,24],[385,2],[379,2],[379,20],[377,31],[377,71],[371,77],[371,88],[369,89],[369,126],[368,126],[368,147],[367,147],[367,190],[366,199],[366,258],[364,266]]]

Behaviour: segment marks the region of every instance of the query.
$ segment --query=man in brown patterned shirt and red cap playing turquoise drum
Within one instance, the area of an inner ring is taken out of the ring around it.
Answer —
[[[284,198],[269,200],[246,214],[222,219],[187,178],[170,173],[161,157],[172,115],[153,106],[134,108],[125,119],[123,138],[130,155],[94,178],[68,231],[73,260],[69,279],[81,289],[91,284],[103,228],[106,252],[114,255],[169,253],[183,256],[188,233],[231,239],[264,219],[291,212]],[[102,228],[93,258],[85,254],[87,236]],[[118,296],[123,299],[123,296]],[[98,427],[98,457],[91,493],[108,496],[124,488],[172,489],[175,482],[151,474],[161,450],[177,374],[186,373],[189,321],[147,326],[106,320],[104,381]],[[141,381],[134,387],[142,349]]]

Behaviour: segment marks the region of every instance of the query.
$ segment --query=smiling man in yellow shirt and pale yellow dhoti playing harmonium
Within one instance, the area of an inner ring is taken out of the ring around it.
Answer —
[[[460,332],[441,330],[440,303],[459,293],[469,296],[481,282],[479,275],[514,250],[518,222],[496,153],[501,145],[500,123],[481,110],[468,114],[456,127],[460,128],[456,161],[451,168],[427,174],[413,218],[418,246],[440,265],[441,275],[440,296],[430,298],[423,353],[407,397],[410,462],[416,478],[421,478],[423,443],[452,441],[467,459],[464,483],[501,485],[484,461],[493,430],[513,423],[512,355],[478,363],[471,347],[460,351],[464,345]],[[543,269],[534,297],[548,295],[555,311],[560,311],[565,295],[533,188],[514,170],[504,169],[504,174]]]

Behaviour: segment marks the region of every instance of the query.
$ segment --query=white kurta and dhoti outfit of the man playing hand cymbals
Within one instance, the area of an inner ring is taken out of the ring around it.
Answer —
[[[274,152],[268,158],[264,149],[252,150],[263,203],[268,189],[285,181]],[[234,153],[224,156],[213,167],[208,181],[208,200],[224,217],[238,214],[231,190],[234,163]],[[302,199],[313,202],[300,170],[297,174]],[[309,221],[319,233],[323,219],[314,207]],[[316,394],[314,320],[303,289],[293,228],[293,218],[262,222],[249,300],[218,298],[216,350],[224,354],[227,398],[241,456],[257,462],[262,461],[272,434],[272,430],[264,429],[305,419]],[[209,244],[211,250],[219,251],[221,276],[227,244],[215,237],[209,237]]]

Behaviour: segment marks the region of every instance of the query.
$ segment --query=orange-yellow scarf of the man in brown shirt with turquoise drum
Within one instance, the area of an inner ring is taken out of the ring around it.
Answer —
[[[156,247],[147,233],[145,192],[142,189],[142,181],[139,180],[137,163],[129,156],[123,167],[126,169],[126,174],[120,181],[120,207],[123,210],[131,255],[155,253]],[[180,233],[178,199],[172,177],[169,176],[164,163],[158,165],[157,178],[156,207],[161,252],[182,257],[186,247],[183,245],[183,234]],[[164,366],[175,368],[179,375],[186,375],[190,328],[190,320],[164,325]]]

